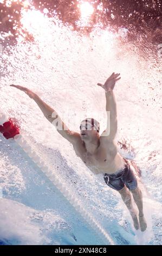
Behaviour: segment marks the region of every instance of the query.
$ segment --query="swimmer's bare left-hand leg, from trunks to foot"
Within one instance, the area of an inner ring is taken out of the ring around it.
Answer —
[[[131,193],[129,192],[126,186],[124,186],[124,188],[122,188],[121,190],[118,190],[118,192],[120,193],[122,200],[124,201],[132,216],[134,228],[139,229],[137,214],[135,213],[135,210],[133,209],[132,205]]]

